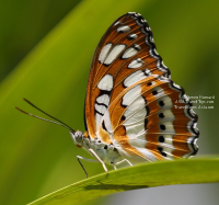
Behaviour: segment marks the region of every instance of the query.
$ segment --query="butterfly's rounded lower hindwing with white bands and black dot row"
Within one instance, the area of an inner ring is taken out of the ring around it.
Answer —
[[[165,77],[151,75],[127,87],[108,111],[114,128],[106,132],[126,158],[153,161],[197,152],[197,115],[184,90]]]

